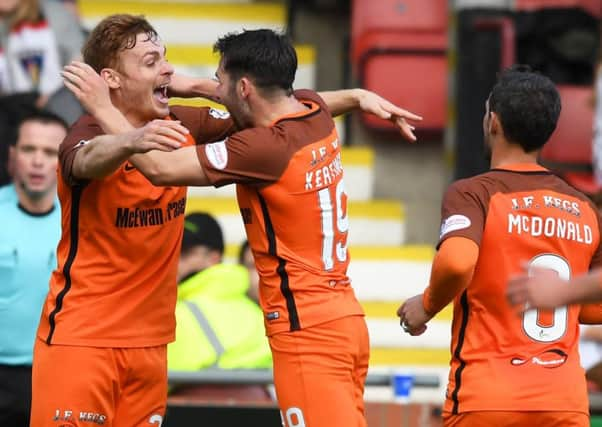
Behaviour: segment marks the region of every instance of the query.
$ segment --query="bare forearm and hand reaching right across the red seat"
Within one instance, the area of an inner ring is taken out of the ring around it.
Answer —
[[[365,89],[343,89],[318,93],[333,116],[360,109],[366,113],[374,114],[384,120],[389,120],[399,128],[399,131],[408,141],[416,141],[414,126],[410,121],[420,121],[422,117],[398,107],[385,98]]]

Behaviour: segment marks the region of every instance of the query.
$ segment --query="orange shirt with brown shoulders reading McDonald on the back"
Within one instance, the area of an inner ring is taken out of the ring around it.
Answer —
[[[441,242],[480,248],[472,281],[454,301],[445,411],[588,413],[578,353],[579,306],[517,315],[505,299],[524,264],[564,279],[602,264],[593,203],[537,165],[457,181],[442,207]]]

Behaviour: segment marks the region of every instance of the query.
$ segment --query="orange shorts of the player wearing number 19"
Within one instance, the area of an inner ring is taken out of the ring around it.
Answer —
[[[363,316],[269,337],[284,427],[366,427],[370,344]]]

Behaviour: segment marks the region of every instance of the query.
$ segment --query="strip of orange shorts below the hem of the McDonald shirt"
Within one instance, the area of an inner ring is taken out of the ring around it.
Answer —
[[[443,413],[445,427],[589,427],[582,412],[559,411],[475,411],[452,415]]]

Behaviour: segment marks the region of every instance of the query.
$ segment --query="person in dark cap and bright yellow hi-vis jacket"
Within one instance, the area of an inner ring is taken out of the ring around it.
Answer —
[[[249,275],[224,264],[224,238],[206,213],[184,220],[178,264],[176,340],[167,346],[170,370],[270,368],[263,314],[246,293]]]

